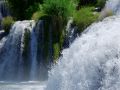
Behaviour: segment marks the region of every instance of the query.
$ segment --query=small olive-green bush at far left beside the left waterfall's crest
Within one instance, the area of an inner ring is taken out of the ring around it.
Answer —
[[[9,33],[10,28],[11,28],[13,23],[14,23],[14,20],[11,16],[7,16],[7,17],[2,19],[1,24],[2,24],[3,29],[5,30],[6,33]]]

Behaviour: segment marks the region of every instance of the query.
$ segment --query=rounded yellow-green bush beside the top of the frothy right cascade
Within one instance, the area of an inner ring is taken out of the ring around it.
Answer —
[[[91,23],[96,21],[99,14],[93,13],[94,7],[83,7],[73,15],[74,23],[78,26],[79,32],[82,32]]]

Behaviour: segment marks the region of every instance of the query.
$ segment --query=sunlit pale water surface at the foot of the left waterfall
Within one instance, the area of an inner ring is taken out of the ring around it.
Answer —
[[[0,82],[0,90],[44,90],[46,82]]]

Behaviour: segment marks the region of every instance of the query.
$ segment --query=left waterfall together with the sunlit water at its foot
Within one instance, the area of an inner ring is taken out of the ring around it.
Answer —
[[[0,41],[0,90],[43,90],[43,81],[38,82],[38,75],[42,72],[38,66],[38,39],[44,30],[42,24],[35,26],[33,20],[18,21],[10,34]],[[44,67],[42,69],[47,72]],[[46,73],[43,74],[46,79]]]

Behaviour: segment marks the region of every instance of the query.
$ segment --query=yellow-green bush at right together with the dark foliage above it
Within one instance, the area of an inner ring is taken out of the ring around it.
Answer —
[[[78,7],[73,15],[73,19],[74,24],[78,26],[79,32],[81,33],[85,28],[98,20],[99,13],[95,12],[95,7],[102,9],[105,6],[106,0],[77,0],[77,2]],[[108,14],[111,15],[111,12],[107,12]],[[102,15],[99,18],[101,19],[105,16]]]

